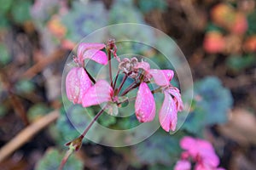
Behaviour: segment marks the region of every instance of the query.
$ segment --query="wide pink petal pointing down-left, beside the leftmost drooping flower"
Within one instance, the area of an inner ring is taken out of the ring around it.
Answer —
[[[90,87],[83,96],[82,104],[84,107],[91,105],[100,105],[103,102],[111,100],[113,88],[105,80],[99,80],[96,84]]]

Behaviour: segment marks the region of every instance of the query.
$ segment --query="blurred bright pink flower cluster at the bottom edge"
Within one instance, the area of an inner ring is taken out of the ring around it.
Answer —
[[[174,170],[190,170],[189,158],[195,162],[195,170],[224,170],[218,167],[219,159],[212,144],[203,139],[183,137],[180,141],[183,153],[181,160],[177,161]]]

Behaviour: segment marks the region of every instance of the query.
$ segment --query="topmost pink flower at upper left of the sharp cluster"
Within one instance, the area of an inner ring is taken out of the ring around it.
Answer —
[[[84,59],[92,59],[101,65],[108,64],[107,55],[101,51],[105,48],[104,43],[80,43],[78,48],[78,62],[84,65]]]

